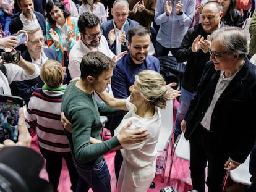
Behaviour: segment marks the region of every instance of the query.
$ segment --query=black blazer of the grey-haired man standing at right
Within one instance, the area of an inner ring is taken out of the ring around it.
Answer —
[[[198,93],[192,99],[184,118],[187,121],[187,140],[200,128],[198,125],[210,106],[219,77],[220,71],[216,71],[213,62],[208,61],[198,85]],[[255,141],[255,109],[256,65],[246,59],[213,109],[210,125],[211,151],[220,155],[222,151],[233,161],[244,162]]]

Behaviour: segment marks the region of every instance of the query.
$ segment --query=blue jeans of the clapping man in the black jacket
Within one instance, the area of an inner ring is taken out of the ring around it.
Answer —
[[[175,134],[181,134],[181,122],[184,119],[187,110],[189,109],[189,105],[191,100],[194,98],[197,92],[191,93],[190,91],[185,90],[181,87],[181,96],[179,98],[179,108],[177,109],[176,120],[175,120]]]

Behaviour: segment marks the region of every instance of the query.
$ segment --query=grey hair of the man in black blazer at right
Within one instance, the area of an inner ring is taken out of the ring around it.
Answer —
[[[213,31],[212,40],[217,40],[228,54],[237,52],[239,59],[244,59],[249,52],[247,36],[239,27],[221,27]]]

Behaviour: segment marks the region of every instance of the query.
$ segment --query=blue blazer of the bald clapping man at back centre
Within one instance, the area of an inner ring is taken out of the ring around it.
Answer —
[[[126,32],[126,38],[127,38],[129,29],[131,27],[134,27],[135,25],[139,25],[139,23],[136,22],[135,20],[131,20],[131,19],[127,18],[126,24],[124,25],[124,31]],[[113,19],[101,24],[101,29],[103,30],[103,35],[105,36],[106,40],[108,40],[109,31],[111,31],[113,28],[114,28]],[[127,41],[127,39],[126,39],[126,41]],[[108,46],[111,49],[111,51],[114,54],[116,54],[116,41],[114,41],[113,45],[110,46],[109,40],[108,40]],[[127,49],[128,49],[127,44],[121,45],[121,52],[126,51]]]

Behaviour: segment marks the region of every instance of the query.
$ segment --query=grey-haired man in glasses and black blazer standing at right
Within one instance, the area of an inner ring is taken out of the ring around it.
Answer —
[[[181,130],[190,143],[190,175],[198,191],[223,191],[226,171],[247,159],[256,138],[256,66],[239,27],[211,34],[210,61]],[[255,163],[255,162],[254,162]]]

